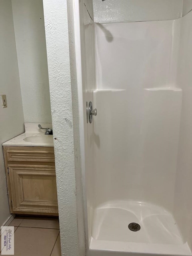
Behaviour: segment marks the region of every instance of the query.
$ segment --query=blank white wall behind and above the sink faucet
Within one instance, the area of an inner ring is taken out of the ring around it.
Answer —
[[[19,77],[26,123],[51,123],[42,0],[12,0]]]

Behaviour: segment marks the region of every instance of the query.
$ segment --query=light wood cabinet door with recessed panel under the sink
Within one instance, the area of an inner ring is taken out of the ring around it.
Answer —
[[[55,166],[8,167],[13,213],[58,213]]]

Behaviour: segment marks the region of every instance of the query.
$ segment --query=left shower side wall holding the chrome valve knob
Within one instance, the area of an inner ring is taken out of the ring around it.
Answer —
[[[86,7],[91,14],[93,6],[91,1],[85,1]],[[94,202],[94,168],[93,168],[93,125],[86,122],[86,101],[93,101],[92,91],[95,89],[95,29],[83,1],[80,1],[81,22],[81,55],[82,55],[82,96],[84,116],[84,146],[85,158],[82,158],[82,180],[85,210],[86,240],[91,237],[91,222],[93,216]],[[82,145],[81,145],[82,147]]]

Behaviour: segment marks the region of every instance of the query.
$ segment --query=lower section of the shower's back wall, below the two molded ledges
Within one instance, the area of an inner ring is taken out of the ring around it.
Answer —
[[[94,92],[96,206],[131,200],[173,212],[182,90],[141,93],[134,116],[126,90]]]

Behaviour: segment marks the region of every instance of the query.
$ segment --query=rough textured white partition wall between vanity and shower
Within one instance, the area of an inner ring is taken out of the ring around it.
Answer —
[[[66,0],[44,0],[46,47],[55,149],[59,223],[62,255],[85,255],[82,216],[79,116],[74,31],[67,20]],[[71,2],[71,1],[70,1]],[[78,1],[76,1],[78,3]],[[69,3],[69,19],[73,17]],[[78,13],[79,9],[76,8]],[[68,35],[70,32],[70,38]],[[69,56],[69,39],[72,48]],[[75,61],[75,60],[74,60]],[[70,74],[71,67],[71,74]],[[73,73],[74,72],[74,73]],[[73,99],[73,111],[72,111]]]

